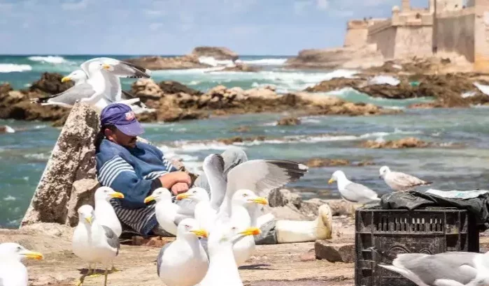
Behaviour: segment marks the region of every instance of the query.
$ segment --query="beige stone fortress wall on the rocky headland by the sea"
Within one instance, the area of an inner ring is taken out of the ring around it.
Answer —
[[[409,0],[401,0],[389,19],[351,20],[344,45],[376,45],[385,59],[456,53],[474,63],[475,70],[489,71],[489,0],[427,4],[413,8]]]

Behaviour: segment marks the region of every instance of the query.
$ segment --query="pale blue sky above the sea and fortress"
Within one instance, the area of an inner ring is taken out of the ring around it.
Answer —
[[[401,0],[0,0],[0,54],[295,55],[343,45],[352,18]],[[425,7],[427,0],[411,0]]]

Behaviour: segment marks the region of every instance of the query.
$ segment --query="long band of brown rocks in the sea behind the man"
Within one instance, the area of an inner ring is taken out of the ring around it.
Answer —
[[[59,93],[72,86],[61,84],[61,78],[62,75],[59,74],[44,73],[41,80],[34,82],[29,89],[20,91],[13,90],[9,84],[1,85],[0,118],[54,121],[55,126],[62,126],[69,109],[31,103],[31,98]],[[153,80],[139,80],[132,84],[132,90],[129,92],[156,110],[153,113],[139,114],[139,119],[146,122],[171,122],[259,112],[292,112],[297,116],[361,116],[398,112],[313,93],[278,94],[273,87],[243,90],[239,87],[227,89],[225,86],[215,86],[203,93],[179,82],[157,83]]]

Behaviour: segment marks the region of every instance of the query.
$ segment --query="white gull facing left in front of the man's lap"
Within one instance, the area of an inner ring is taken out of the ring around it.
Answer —
[[[192,215],[189,215],[193,213],[193,210],[190,211],[171,202],[171,192],[167,188],[157,188],[153,194],[144,199],[144,203],[147,204],[153,200],[156,201],[156,220],[170,234],[177,234],[177,225],[180,221],[185,218],[193,218]]]

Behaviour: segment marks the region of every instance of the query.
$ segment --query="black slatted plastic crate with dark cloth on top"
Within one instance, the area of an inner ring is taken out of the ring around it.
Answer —
[[[398,253],[479,253],[476,220],[465,210],[369,207],[355,214],[355,286],[416,286],[378,266],[391,264]]]

